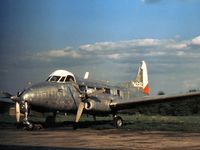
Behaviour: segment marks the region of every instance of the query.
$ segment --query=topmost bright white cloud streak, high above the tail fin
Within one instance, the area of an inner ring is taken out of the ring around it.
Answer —
[[[131,50],[131,51],[140,51],[141,49],[158,49],[161,48],[165,50],[182,50],[187,49],[191,41],[178,41],[176,39],[134,39],[127,41],[119,42],[99,42],[94,44],[81,45],[80,49],[87,52],[112,52]],[[197,42],[196,42],[197,43]]]

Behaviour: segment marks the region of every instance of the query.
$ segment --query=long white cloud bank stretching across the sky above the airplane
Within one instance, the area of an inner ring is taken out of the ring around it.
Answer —
[[[133,39],[118,42],[97,42],[80,45],[78,49],[66,47],[63,49],[39,52],[36,57],[41,61],[71,59],[71,61],[113,61],[115,63],[130,63],[134,59],[172,60],[179,58],[196,58],[193,45],[199,44],[200,36],[191,40],[175,39]],[[59,61],[59,60],[58,60]],[[170,62],[170,61],[169,61]],[[171,63],[171,62],[170,62]]]

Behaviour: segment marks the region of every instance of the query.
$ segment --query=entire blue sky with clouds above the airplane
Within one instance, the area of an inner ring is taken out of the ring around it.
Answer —
[[[1,0],[0,90],[56,69],[120,83],[145,60],[151,94],[200,89],[199,0]]]

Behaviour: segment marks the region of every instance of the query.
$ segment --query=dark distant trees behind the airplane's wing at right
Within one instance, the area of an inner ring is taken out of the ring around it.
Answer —
[[[189,92],[194,92],[190,90]],[[160,91],[158,95],[164,95]],[[146,115],[172,115],[172,116],[187,116],[187,115],[200,115],[200,97],[187,98],[180,101],[148,104],[139,106],[131,110],[124,111],[129,114],[146,114]]]

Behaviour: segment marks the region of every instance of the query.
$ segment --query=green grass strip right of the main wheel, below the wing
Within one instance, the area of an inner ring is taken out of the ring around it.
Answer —
[[[200,131],[200,116],[147,116],[124,117],[123,128],[146,131]]]

